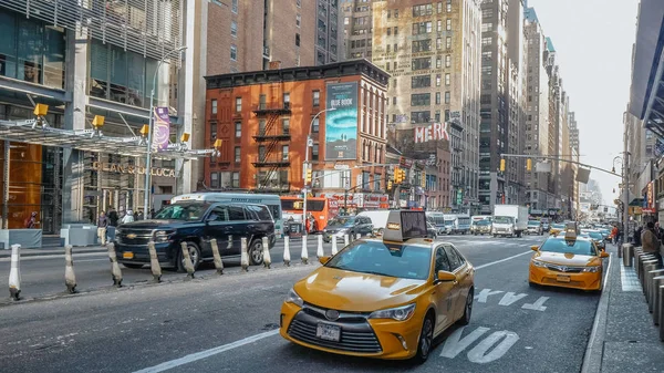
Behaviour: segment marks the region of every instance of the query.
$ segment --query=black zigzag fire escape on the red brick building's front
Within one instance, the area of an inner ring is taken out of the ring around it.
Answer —
[[[290,185],[288,180],[281,180],[279,178],[279,172],[281,168],[290,167],[289,155],[282,155],[280,145],[282,142],[289,142],[290,128],[281,127],[280,120],[282,115],[290,114],[290,103],[284,102],[282,105],[277,107],[268,107],[267,104],[259,104],[258,108],[253,111],[253,114],[260,120],[266,121],[263,128],[259,127],[258,133],[252,136],[253,141],[259,146],[258,156],[256,162],[252,163],[253,167],[266,170],[264,177],[258,178],[257,189],[261,191],[273,191],[273,193],[288,193],[290,191]],[[260,152],[260,149],[264,149]]]

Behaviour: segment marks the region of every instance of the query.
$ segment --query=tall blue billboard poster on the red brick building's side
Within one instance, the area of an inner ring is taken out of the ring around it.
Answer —
[[[325,160],[357,158],[357,82],[326,87]]]

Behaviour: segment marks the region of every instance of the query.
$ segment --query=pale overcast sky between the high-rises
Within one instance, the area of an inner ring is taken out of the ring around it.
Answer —
[[[528,7],[556,48],[570,110],[577,113],[581,163],[611,169],[623,151],[639,0],[528,0]],[[612,204],[620,178],[599,170],[590,177],[600,183],[604,203]]]

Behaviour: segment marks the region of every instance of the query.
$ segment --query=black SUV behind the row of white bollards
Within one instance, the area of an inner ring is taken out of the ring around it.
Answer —
[[[184,271],[180,242],[187,242],[194,267],[212,260],[210,240],[217,239],[219,253],[239,258],[241,238],[247,238],[249,263],[262,263],[262,238],[270,249],[277,240],[274,220],[264,205],[181,201],[166,206],[153,220],[120,226],[115,231],[117,261],[128,268],[149,265],[147,242],[153,240],[159,263]]]

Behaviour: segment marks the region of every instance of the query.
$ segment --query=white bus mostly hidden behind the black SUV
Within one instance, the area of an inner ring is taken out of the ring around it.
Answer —
[[[258,204],[266,205],[272,218],[274,219],[274,235],[281,237],[283,235],[283,214],[281,209],[281,200],[278,195],[260,195],[251,193],[225,193],[225,191],[208,191],[193,193],[181,196],[175,196],[170,199],[172,204],[180,200],[203,200],[203,201],[220,201],[220,203],[239,203],[239,204]]]

